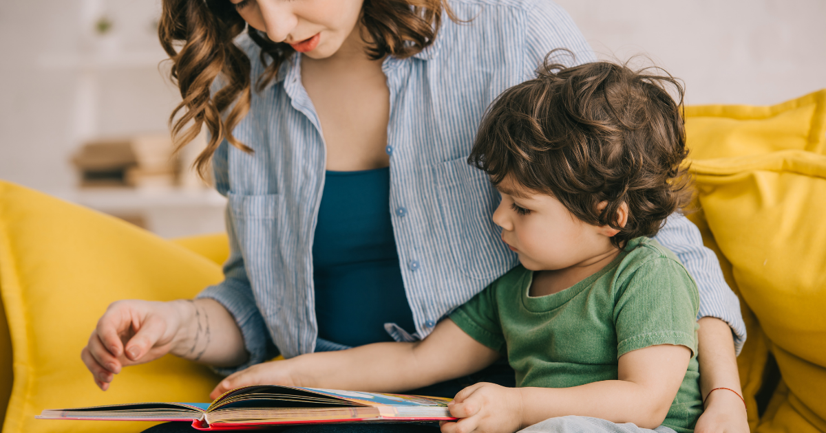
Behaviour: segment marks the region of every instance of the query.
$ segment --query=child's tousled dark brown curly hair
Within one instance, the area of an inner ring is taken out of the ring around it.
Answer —
[[[537,78],[510,87],[488,108],[468,162],[495,185],[510,176],[553,195],[587,224],[619,229],[616,247],[655,235],[691,196],[681,166],[688,153],[681,83],[628,64],[565,68],[549,62],[552,54]],[[624,227],[617,222],[623,203]]]

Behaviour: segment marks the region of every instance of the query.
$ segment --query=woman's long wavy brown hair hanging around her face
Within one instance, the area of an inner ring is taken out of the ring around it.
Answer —
[[[368,45],[368,55],[371,59],[387,55],[405,59],[419,53],[434,42],[443,13],[458,21],[446,0],[364,0],[360,23],[368,40],[373,41]],[[260,60],[266,68],[255,83],[261,90],[295,53],[290,45],[274,43],[247,26],[230,0],[163,2],[158,35],[172,59],[171,78],[183,97],[169,116],[169,125],[178,150],[197,137],[202,125],[207,125],[209,143],[195,161],[202,176],[223,139],[251,152],[232,135],[249,111],[252,87],[249,59],[233,42],[243,31],[261,48]],[[211,95],[212,82],[219,77],[224,86]]]

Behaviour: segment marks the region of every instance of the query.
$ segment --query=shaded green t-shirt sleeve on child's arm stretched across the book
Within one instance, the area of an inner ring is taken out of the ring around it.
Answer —
[[[453,311],[450,320],[473,340],[493,351],[505,351],[505,336],[496,308],[496,282]]]

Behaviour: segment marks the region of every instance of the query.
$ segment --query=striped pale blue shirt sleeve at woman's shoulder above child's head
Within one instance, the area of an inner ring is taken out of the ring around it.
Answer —
[[[554,49],[569,49],[574,54],[554,55],[556,63],[574,66],[596,60],[591,45],[582,36],[570,15],[555,2],[537,0],[527,12],[525,35],[525,77],[534,78],[536,69]]]

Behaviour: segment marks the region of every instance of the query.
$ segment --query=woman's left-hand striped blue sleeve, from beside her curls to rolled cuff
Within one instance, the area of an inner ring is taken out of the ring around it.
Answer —
[[[227,172],[227,151],[229,144],[224,140],[216,149],[212,158],[212,167],[215,174],[216,189],[221,195],[229,191]],[[217,285],[211,285],[197,295],[197,299],[215,299],[230,312],[244,337],[244,346],[249,352],[249,359],[243,365],[236,367],[213,367],[218,374],[229,375],[245,369],[250,365],[259,364],[278,355],[278,351],[269,337],[266,324],[261,316],[258,305],[255,304],[252,287],[249,285],[244,258],[235,236],[235,224],[232,213],[225,212],[226,231],[230,238],[230,257],[224,264],[224,280]]]

